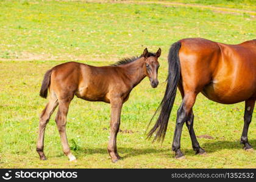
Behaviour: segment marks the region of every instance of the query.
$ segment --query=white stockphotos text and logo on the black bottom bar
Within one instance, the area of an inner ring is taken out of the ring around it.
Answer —
[[[12,173],[12,170],[5,172],[2,176],[4,180],[10,180],[12,178],[39,178],[46,180],[47,178],[77,178],[77,172],[65,172],[64,170],[55,172],[52,170],[49,171],[16,171]]]

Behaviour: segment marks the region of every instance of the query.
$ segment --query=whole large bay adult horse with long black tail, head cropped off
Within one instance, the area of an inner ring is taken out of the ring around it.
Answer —
[[[256,40],[237,45],[221,44],[202,38],[181,39],[172,44],[168,55],[168,78],[158,111],[160,115],[148,136],[154,132],[154,140],[162,140],[169,115],[176,97],[177,87],[182,95],[182,104],[177,110],[172,150],[176,158],[183,158],[180,151],[180,136],[186,123],[193,149],[204,154],[193,129],[193,106],[198,93],[222,104],[245,101],[244,127],[241,143],[245,150],[252,150],[247,140],[256,98]],[[152,121],[152,120],[151,120]]]

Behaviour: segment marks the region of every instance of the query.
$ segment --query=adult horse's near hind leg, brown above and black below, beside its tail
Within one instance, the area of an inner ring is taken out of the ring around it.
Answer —
[[[172,142],[172,150],[176,152],[175,158],[183,158],[183,153],[180,150],[180,136],[182,134],[183,124],[188,121],[191,109],[196,101],[196,93],[185,93],[182,104],[177,111],[176,127],[174,132],[174,139]]]

